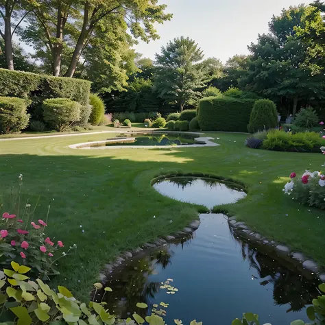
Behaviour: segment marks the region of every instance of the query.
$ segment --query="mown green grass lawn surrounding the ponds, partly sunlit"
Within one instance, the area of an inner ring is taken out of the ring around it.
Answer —
[[[69,149],[72,143],[108,139],[87,134],[53,139],[0,141],[3,202],[23,174],[23,197],[45,218],[47,234],[66,246],[58,281],[87,296],[99,270],[119,252],[180,230],[197,217],[197,206],[157,193],[150,180],[169,171],[211,173],[241,180],[248,196],[228,205],[252,229],[311,256],[325,266],[324,211],[300,206],[282,188],[292,171],[322,169],[322,154],[268,152],[243,145],[245,134],[206,133],[218,147],[172,149]],[[9,211],[10,212],[10,211]],[[156,218],[154,218],[156,216]],[[173,222],[171,223],[170,220]],[[84,230],[84,232],[82,232]]]

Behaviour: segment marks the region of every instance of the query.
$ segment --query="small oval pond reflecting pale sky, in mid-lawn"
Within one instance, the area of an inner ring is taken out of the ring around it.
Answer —
[[[234,203],[246,196],[239,185],[213,178],[164,178],[153,186],[163,195],[179,201],[202,204],[208,208]]]

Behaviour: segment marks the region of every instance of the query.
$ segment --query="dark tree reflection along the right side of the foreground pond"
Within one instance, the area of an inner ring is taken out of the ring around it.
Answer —
[[[301,311],[304,306],[311,304],[313,298],[317,298],[317,283],[307,280],[301,274],[293,272],[281,265],[273,258],[261,254],[250,243],[241,241],[234,234],[234,239],[241,245],[243,259],[250,262],[250,267],[254,267],[261,279],[260,285],[273,285],[273,298],[276,305],[289,304],[289,311]],[[253,276],[256,278],[255,276]]]

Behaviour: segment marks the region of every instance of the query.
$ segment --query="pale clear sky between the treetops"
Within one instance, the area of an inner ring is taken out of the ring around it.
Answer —
[[[308,1],[310,3],[312,1]],[[155,53],[173,38],[195,40],[205,58],[226,62],[235,54],[248,54],[247,46],[258,34],[268,32],[272,16],[283,8],[304,3],[298,0],[158,0],[173,14],[171,21],[156,25],[159,40],[139,41],[134,48],[143,57],[154,60]]]

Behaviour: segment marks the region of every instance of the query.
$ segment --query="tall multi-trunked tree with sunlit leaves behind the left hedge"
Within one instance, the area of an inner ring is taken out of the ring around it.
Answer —
[[[53,75],[62,74],[62,53],[68,47],[71,58],[65,75],[72,77],[82,53],[108,16],[119,21],[122,16],[134,38],[149,41],[158,38],[154,23],[171,19],[171,14],[165,14],[165,8],[166,5],[158,5],[156,0],[40,0],[24,36],[37,47],[51,51]]]

